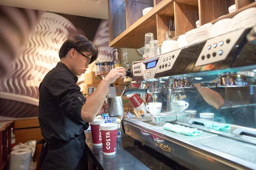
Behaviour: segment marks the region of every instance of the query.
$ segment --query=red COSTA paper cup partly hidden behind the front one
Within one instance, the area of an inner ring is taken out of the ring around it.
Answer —
[[[104,124],[104,123],[105,123],[105,119],[94,119],[93,122],[90,122],[93,146],[102,145],[102,134],[100,130],[100,124]]]

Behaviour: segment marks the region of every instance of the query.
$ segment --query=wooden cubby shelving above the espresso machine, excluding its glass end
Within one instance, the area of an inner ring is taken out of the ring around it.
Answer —
[[[210,6],[215,6],[209,10]],[[237,10],[228,13],[228,6],[236,4]],[[244,9],[256,7],[252,0],[154,0],[154,8],[140,17],[135,23],[109,42],[111,47],[141,48],[144,46],[145,33],[154,34],[154,39],[161,45],[165,40],[165,32],[169,30],[170,20],[175,21],[175,37],[196,28],[195,21],[200,24],[216,23],[224,18],[232,18]],[[226,14],[224,17],[218,18]],[[216,19],[218,18],[218,19]],[[111,29],[111,27],[110,27]]]

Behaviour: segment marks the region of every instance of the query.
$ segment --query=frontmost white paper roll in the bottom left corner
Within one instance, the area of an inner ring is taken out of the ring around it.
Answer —
[[[11,152],[10,170],[29,170],[31,150],[19,149]]]

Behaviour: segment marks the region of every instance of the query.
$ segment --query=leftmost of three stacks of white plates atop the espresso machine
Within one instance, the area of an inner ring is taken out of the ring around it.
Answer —
[[[188,45],[195,44],[210,38],[210,32],[206,27],[192,29],[185,33]]]

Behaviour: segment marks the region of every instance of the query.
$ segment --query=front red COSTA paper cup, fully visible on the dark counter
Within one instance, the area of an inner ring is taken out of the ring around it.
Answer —
[[[107,156],[116,154],[117,124],[101,124],[100,129],[102,133],[103,154]]]

